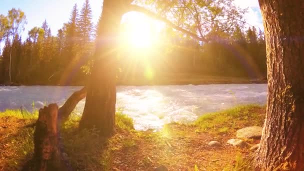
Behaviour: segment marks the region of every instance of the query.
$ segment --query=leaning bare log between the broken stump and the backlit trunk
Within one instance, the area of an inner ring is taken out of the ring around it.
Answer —
[[[86,88],[83,87],[80,90],[73,92],[72,95],[67,98],[65,103],[59,108],[59,124],[62,124],[67,120],[68,116],[74,110],[77,103],[85,98],[85,96]]]

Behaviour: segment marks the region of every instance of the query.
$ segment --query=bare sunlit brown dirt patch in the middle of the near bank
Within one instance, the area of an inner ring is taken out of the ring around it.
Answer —
[[[229,145],[210,148],[207,143],[217,140],[221,144],[231,138],[221,135],[214,138],[207,133],[195,133],[194,126],[169,124],[159,133],[119,134],[118,138],[129,144],[112,145],[113,170],[153,170],[165,165],[169,170],[222,170],[233,164],[241,151]],[[129,140],[127,140],[129,139]],[[115,140],[115,141],[116,141]]]

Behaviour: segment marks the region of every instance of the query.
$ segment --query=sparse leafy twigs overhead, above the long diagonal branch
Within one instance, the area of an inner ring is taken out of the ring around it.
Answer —
[[[170,20],[176,25],[208,40],[222,33],[230,34],[237,26],[242,27],[243,14],[247,11],[236,6],[233,0],[137,1],[155,7],[161,16],[171,16]]]

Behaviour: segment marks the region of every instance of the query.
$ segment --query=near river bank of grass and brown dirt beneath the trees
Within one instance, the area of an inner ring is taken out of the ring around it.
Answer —
[[[0,113],[0,170],[18,170],[31,158],[37,113],[20,110]],[[246,139],[249,146],[228,145],[236,130],[262,126],[265,107],[245,105],[200,116],[191,124],[165,124],[160,131],[138,131],[124,114],[116,114],[116,134],[110,139],[95,130],[77,129],[79,116],[72,116],[61,128],[66,157],[78,170],[153,170],[160,165],[168,170],[241,170],[250,167],[249,147],[259,140]],[[207,143],[221,145],[210,147]]]

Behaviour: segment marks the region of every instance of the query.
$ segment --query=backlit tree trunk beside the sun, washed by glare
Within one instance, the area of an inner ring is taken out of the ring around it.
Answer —
[[[116,103],[116,54],[120,20],[126,0],[103,0],[94,65],[80,128],[96,127],[103,136],[114,133]]]

